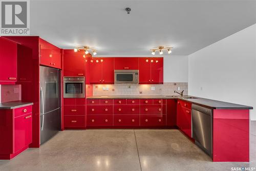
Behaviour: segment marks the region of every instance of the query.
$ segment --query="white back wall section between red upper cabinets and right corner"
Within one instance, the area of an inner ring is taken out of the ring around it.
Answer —
[[[188,56],[166,55],[163,60],[164,82],[188,81]]]

